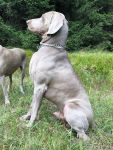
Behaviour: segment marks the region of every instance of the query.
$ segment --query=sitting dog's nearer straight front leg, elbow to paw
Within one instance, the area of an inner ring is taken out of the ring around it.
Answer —
[[[31,127],[37,117],[37,113],[39,111],[40,105],[41,105],[41,98],[45,91],[47,90],[46,84],[40,84],[36,85],[34,87],[34,94],[33,94],[33,101],[31,105],[31,117],[29,120],[29,123],[27,124],[27,127]]]

